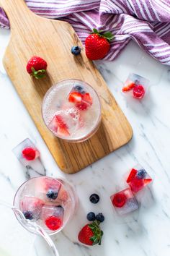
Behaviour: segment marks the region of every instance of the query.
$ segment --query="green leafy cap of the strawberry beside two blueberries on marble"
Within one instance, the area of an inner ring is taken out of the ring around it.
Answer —
[[[94,236],[90,238],[90,240],[93,242],[93,245],[94,244],[100,245],[102,242],[103,231],[100,229],[99,224],[100,224],[99,221],[94,221],[93,223],[89,224],[89,228],[94,233]]]

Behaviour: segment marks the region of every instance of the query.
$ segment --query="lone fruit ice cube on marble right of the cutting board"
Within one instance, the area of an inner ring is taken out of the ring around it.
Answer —
[[[127,93],[133,98],[141,99],[146,95],[149,80],[139,74],[130,73],[122,88],[123,93]]]

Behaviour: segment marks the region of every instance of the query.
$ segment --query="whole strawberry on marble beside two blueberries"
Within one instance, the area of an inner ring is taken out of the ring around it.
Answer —
[[[86,224],[79,232],[78,239],[86,245],[101,244],[103,231],[99,227],[99,221]]]

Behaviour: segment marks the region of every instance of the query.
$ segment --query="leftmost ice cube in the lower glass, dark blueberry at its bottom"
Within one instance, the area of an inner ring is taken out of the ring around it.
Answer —
[[[19,202],[19,209],[25,218],[38,220],[41,215],[42,206],[45,203],[37,197],[23,197]]]

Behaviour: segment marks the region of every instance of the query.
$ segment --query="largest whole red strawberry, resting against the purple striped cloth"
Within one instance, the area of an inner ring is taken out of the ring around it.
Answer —
[[[85,40],[86,56],[91,59],[102,59],[109,51],[109,41],[114,38],[111,32],[93,29],[93,32],[88,35]]]

